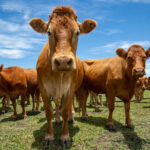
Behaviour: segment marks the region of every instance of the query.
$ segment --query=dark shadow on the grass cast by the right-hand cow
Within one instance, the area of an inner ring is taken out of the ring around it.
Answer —
[[[103,127],[104,129],[108,130],[106,127],[107,119],[103,117],[93,117],[89,116],[87,121],[82,120],[80,117],[75,117],[75,120],[80,121],[85,124],[95,125],[99,127]],[[133,130],[128,129],[126,126],[123,126],[120,122],[114,120],[114,125],[116,127],[116,132],[112,133],[112,137],[108,142],[114,143],[114,134],[117,135],[117,132],[121,132],[124,139],[122,139],[123,143],[125,143],[130,150],[141,150],[142,145],[148,143],[150,144],[150,141],[146,141],[145,139],[140,138],[137,133]],[[110,132],[108,131],[108,134]],[[107,133],[105,133],[107,135]],[[118,136],[118,139],[120,140],[120,137]],[[116,142],[118,141],[116,139]],[[107,139],[108,140],[108,139]]]

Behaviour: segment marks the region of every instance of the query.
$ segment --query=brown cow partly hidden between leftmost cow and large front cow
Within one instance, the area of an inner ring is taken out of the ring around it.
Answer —
[[[33,111],[39,111],[39,101],[40,101],[40,90],[37,82],[37,71],[36,69],[24,69],[27,79],[27,102],[30,104],[29,96],[31,94],[33,101]],[[36,102],[36,109],[35,109]]]

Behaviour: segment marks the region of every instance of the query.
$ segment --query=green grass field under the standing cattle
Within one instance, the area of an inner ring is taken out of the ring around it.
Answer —
[[[75,123],[69,125],[71,150],[150,150],[150,91],[145,91],[141,103],[136,103],[134,98],[131,102],[130,114],[135,125],[134,131],[125,127],[124,106],[118,99],[113,115],[116,132],[109,132],[105,126],[107,107],[100,108],[99,112],[95,112],[95,108],[89,107],[89,104],[87,108],[88,121],[82,121],[80,114],[76,112]],[[22,120],[20,105],[17,110],[19,118],[15,121],[11,118],[12,112],[0,115],[0,150],[43,149],[42,140],[46,130],[44,111],[34,114],[31,105],[26,106],[28,116]],[[54,149],[59,150],[61,126],[54,126],[54,131]]]

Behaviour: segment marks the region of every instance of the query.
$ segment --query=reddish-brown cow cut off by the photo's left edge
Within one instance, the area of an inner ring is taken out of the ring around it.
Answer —
[[[26,76],[24,70],[20,67],[8,67],[3,69],[3,65],[0,67],[0,95],[10,97],[14,115],[17,117],[16,111],[16,98],[21,95],[21,106],[23,118],[26,117],[25,111],[25,98],[26,98]]]

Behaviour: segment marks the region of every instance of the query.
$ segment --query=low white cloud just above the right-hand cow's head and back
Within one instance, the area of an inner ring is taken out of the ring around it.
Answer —
[[[113,43],[108,43],[106,45],[98,46],[90,49],[89,51],[93,52],[94,54],[98,54],[101,51],[114,53],[117,48],[128,49],[133,44],[138,44],[147,48],[150,46],[150,41],[119,41],[119,42],[113,42]]]

